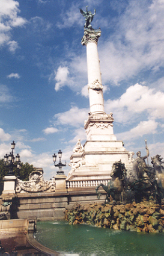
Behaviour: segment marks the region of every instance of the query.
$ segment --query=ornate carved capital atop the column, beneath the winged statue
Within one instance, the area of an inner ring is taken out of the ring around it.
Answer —
[[[100,28],[98,30],[94,30],[93,28],[84,28],[84,36],[81,40],[82,45],[87,45],[87,43],[91,41],[97,44],[101,33],[102,31]]]

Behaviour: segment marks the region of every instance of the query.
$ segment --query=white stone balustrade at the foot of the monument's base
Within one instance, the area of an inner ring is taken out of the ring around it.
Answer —
[[[86,180],[86,181],[66,181],[67,189],[77,189],[84,187],[97,187],[101,183],[107,186],[109,180]]]

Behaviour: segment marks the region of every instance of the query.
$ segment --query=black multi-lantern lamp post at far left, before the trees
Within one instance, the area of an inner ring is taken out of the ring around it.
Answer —
[[[8,174],[7,174],[8,176],[14,175],[15,157],[14,157],[13,152],[14,152],[15,146],[16,146],[16,143],[14,143],[14,141],[13,141],[13,143],[11,143],[12,151],[10,152],[9,155],[6,154],[4,156],[4,161],[6,164],[8,163],[8,167],[9,167]],[[20,155],[19,154],[16,155],[16,164],[17,164],[17,168],[20,169]]]

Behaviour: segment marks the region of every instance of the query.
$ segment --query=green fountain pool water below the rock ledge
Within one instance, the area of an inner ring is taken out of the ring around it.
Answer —
[[[164,255],[164,233],[136,233],[69,225],[65,221],[37,222],[36,239],[66,255]]]

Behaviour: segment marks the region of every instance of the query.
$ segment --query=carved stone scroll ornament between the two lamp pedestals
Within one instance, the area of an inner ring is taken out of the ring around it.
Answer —
[[[16,193],[55,192],[55,179],[44,181],[43,170],[34,170],[29,174],[29,181],[17,180]]]

